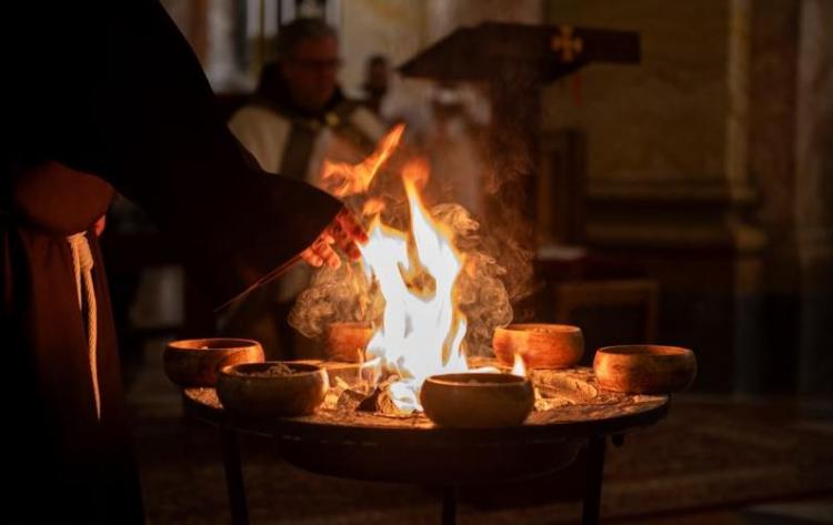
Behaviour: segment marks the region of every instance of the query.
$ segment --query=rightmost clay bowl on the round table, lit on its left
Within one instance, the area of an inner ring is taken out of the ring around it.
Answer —
[[[666,394],[691,385],[697,374],[697,361],[694,352],[679,346],[606,346],[596,351],[593,370],[605,390]]]

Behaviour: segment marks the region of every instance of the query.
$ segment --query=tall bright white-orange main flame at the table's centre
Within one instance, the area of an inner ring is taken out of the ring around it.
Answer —
[[[454,284],[464,266],[452,244],[453,232],[425,209],[418,184],[428,180],[424,161],[402,170],[411,231],[377,215],[369,242],[360,246],[364,271],[379,283],[385,307],[382,324],[368,343],[368,356],[399,376],[390,394],[400,411],[420,411],[419,391],[426,377],[468,370],[461,343],[465,317],[454,305]]]

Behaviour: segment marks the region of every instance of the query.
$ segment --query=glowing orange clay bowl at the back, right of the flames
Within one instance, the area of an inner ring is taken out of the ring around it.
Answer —
[[[569,324],[510,324],[494,330],[492,347],[508,366],[520,354],[528,368],[569,368],[584,353],[584,335]]]

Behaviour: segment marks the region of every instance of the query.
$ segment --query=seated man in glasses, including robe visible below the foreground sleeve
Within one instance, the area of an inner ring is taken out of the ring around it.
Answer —
[[[387,130],[339,87],[341,59],[332,27],[295,19],[279,29],[275,48],[277,62],[264,67],[254,95],[232,114],[229,129],[264,170],[319,185],[324,159],[359,162]],[[299,269],[264,286],[229,312],[223,333],[258,339],[271,359],[312,356],[311,342],[288,323],[309,279]]]

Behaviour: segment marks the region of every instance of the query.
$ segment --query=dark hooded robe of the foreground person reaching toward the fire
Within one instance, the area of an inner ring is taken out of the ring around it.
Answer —
[[[341,203],[260,170],[158,2],[3,2],[0,20],[0,523],[142,523],[90,231],[113,188],[195,263],[207,310],[303,250]],[[66,239],[81,231],[94,260],[100,421]]]

